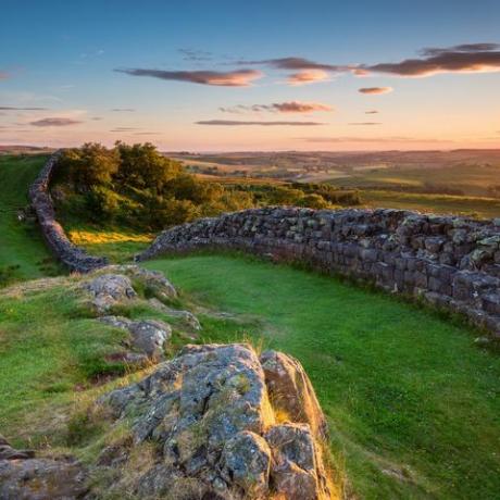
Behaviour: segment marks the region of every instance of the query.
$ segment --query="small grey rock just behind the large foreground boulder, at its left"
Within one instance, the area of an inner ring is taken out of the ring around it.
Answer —
[[[165,342],[172,337],[171,326],[162,321],[132,321],[124,316],[102,316],[100,321],[129,332],[134,349],[152,360],[162,358]]]

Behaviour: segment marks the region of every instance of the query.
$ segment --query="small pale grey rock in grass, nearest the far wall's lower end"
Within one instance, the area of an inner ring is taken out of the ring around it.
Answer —
[[[92,297],[92,305],[99,313],[109,311],[116,303],[137,297],[130,278],[123,274],[102,274],[84,284]]]

